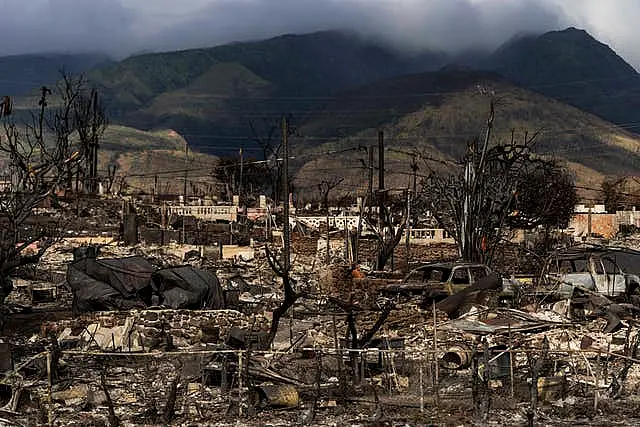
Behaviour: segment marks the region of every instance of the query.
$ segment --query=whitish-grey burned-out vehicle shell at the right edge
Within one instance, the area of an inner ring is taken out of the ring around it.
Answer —
[[[640,286],[640,277],[635,272],[625,271],[626,266],[637,265],[640,261],[640,254],[634,252],[597,246],[556,252],[544,267],[538,292],[567,299],[579,289],[608,298],[626,299]]]

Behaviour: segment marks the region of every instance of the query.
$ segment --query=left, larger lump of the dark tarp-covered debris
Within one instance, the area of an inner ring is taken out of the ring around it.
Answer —
[[[67,267],[74,310],[127,310],[146,307],[153,266],[142,257],[83,258]],[[147,295],[147,298],[145,298]],[[146,301],[145,301],[146,300]]]

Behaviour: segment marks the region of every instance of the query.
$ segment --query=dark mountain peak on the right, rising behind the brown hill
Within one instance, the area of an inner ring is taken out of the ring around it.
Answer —
[[[640,121],[640,75],[584,30],[516,38],[482,65],[613,123]]]

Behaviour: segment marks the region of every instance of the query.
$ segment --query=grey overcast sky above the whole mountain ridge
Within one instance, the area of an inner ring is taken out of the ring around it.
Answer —
[[[408,49],[493,48],[584,28],[640,68],[639,0],[0,0],[0,55],[213,46],[351,29]]]

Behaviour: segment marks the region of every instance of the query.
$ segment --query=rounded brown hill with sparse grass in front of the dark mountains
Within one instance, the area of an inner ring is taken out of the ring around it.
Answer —
[[[597,187],[605,175],[640,168],[637,135],[496,73],[442,70],[377,82],[315,112],[298,129],[301,136],[291,139],[300,168],[296,182],[317,187],[323,177],[336,175],[347,178],[347,186],[366,187],[361,148],[376,146],[378,129],[384,129],[388,182],[406,187],[415,153],[442,167],[483,137],[491,98],[498,100],[493,141],[538,132],[537,152],[565,162],[581,186]],[[428,173],[417,160],[420,173]]]

